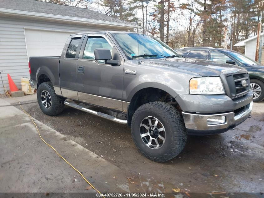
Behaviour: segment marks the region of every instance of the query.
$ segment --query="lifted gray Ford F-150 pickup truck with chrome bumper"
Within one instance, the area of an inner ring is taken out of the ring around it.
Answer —
[[[144,34],[73,34],[61,57],[30,57],[29,67],[43,113],[67,105],[127,124],[139,150],[157,162],[177,156],[187,134],[232,130],[252,110],[246,69],[183,58]]]

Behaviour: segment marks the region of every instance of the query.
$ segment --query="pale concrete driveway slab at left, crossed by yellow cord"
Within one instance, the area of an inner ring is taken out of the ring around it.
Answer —
[[[0,99],[2,105],[8,103]],[[47,125],[35,122],[42,137],[98,190],[127,192],[123,186],[136,190],[127,180],[131,176],[125,170]],[[35,125],[24,112],[13,106],[0,107],[0,126],[0,197],[37,196],[3,195],[2,192],[95,192],[90,188],[87,190],[89,185],[81,176],[42,142]]]

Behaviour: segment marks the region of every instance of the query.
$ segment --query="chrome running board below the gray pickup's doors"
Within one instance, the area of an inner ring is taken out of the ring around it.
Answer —
[[[83,106],[75,104],[74,102],[64,101],[64,104],[67,105],[67,106],[73,107],[75,109],[79,109],[81,111],[87,112],[89,114],[97,115],[97,116],[99,116],[101,118],[106,118],[106,119],[112,120],[112,121],[117,122],[119,124],[127,124],[127,120],[117,119],[116,117],[114,117],[112,115],[108,115],[108,114],[104,114],[104,113],[101,113],[101,112],[98,112],[98,111],[94,111],[94,110],[91,110],[91,109],[88,109],[88,108],[84,108]]]

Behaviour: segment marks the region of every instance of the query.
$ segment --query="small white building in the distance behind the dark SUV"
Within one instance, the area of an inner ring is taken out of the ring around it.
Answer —
[[[261,33],[260,39],[262,39],[263,32]],[[260,46],[260,49],[264,45],[264,41]],[[236,43],[235,46],[245,48],[245,55],[253,60],[255,60],[256,49],[257,49],[257,35],[247,38],[239,43]]]

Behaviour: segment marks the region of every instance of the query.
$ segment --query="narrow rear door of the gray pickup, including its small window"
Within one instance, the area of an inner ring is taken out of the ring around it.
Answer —
[[[62,51],[60,59],[60,87],[62,96],[70,99],[78,100],[77,94],[77,60],[84,37],[80,35],[72,35],[69,37]]]

